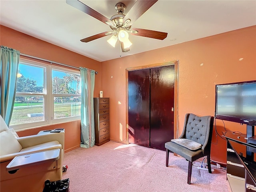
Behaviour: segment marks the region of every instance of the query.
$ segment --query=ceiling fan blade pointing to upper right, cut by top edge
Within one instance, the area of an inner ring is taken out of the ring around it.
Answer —
[[[132,25],[144,12],[146,12],[157,0],[137,0],[130,11],[124,17],[124,21],[130,19]]]

